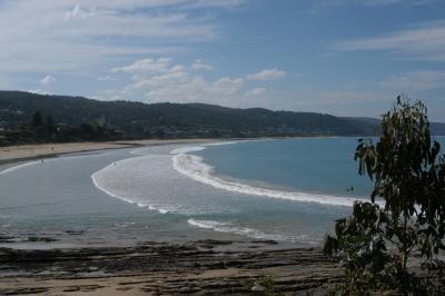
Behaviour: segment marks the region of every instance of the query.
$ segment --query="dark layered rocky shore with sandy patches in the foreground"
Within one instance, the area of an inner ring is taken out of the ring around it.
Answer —
[[[336,262],[271,240],[0,249],[4,295],[325,295]]]

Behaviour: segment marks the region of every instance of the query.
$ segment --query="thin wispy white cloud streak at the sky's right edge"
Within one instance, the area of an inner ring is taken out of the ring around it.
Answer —
[[[427,22],[388,36],[337,42],[338,50],[393,50],[415,59],[445,61],[445,20]]]

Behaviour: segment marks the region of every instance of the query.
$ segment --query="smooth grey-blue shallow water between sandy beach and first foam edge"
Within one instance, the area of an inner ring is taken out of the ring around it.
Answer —
[[[169,152],[175,147],[156,147]],[[186,217],[161,215],[112,198],[99,190],[91,175],[105,166],[135,157],[134,149],[78,154],[0,167],[0,233],[26,240],[58,239],[55,247],[131,245],[135,241],[186,241],[212,236],[190,231]],[[29,244],[46,247],[44,243]],[[4,244],[4,246],[12,246]],[[28,243],[18,241],[17,247]]]

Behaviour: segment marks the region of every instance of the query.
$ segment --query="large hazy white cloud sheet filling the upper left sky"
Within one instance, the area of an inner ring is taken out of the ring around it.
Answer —
[[[0,75],[58,71],[91,75],[136,57],[177,53],[219,37],[217,20],[205,14],[207,9],[236,9],[244,2],[3,1]]]

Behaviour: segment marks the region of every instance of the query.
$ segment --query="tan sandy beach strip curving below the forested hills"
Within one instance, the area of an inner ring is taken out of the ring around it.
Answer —
[[[20,160],[52,157],[63,154],[96,151],[105,149],[119,149],[127,147],[206,142],[215,139],[148,139],[129,141],[106,141],[106,142],[62,142],[62,144],[37,144],[0,147],[0,165]]]

